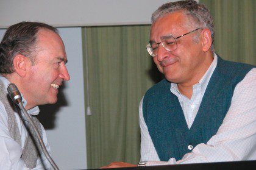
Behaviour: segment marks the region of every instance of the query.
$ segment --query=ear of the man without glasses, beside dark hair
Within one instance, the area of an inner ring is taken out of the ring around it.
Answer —
[[[29,65],[30,60],[24,55],[18,54],[13,58],[13,67],[15,69],[15,72],[21,77],[26,76],[27,66]]]

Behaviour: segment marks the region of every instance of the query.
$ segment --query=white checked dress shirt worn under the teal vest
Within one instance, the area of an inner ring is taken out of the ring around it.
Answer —
[[[171,83],[171,93],[175,94],[182,107],[187,125],[190,128],[199,110],[210,77],[216,68],[218,57],[196,85],[193,85],[191,99],[179,92],[177,84]],[[143,118],[143,99],[140,102],[141,161],[150,165],[172,165],[178,163],[207,163],[218,161],[256,160],[256,68],[249,71],[238,83],[233,92],[230,108],[216,135],[197,146],[188,146],[191,153],[182,160],[169,158],[160,161],[152,143],[148,127]],[[166,132],[168,133],[168,132]]]

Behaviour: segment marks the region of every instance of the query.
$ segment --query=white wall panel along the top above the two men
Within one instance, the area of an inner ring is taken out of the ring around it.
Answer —
[[[151,14],[168,0],[1,0],[0,28],[20,21],[53,26],[149,24]]]

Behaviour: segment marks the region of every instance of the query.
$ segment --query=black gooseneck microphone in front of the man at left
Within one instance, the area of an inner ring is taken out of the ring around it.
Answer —
[[[51,163],[52,167],[54,169],[59,170],[58,166],[56,165],[56,163],[54,162],[54,160],[52,160],[51,156],[49,155],[48,151],[46,150],[46,147],[44,146],[43,140],[40,136],[40,133],[38,132],[37,127],[35,126],[34,122],[32,121],[32,119],[30,118],[29,114],[27,113],[27,110],[24,108],[23,106],[23,102],[22,102],[22,97],[21,97],[21,93],[18,90],[18,87],[16,87],[15,84],[10,83],[7,86],[7,91],[8,94],[10,96],[10,98],[12,99],[12,101],[18,105],[18,107],[20,107],[21,111],[23,112],[23,114],[26,116],[27,121],[29,121],[29,123],[32,125],[33,129],[35,130],[35,134],[37,135],[39,144],[41,146],[41,149],[44,153],[44,155],[46,156],[46,158],[48,159],[48,161]]]

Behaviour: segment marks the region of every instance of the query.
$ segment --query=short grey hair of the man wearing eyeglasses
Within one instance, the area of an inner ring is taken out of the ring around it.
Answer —
[[[212,16],[204,5],[198,4],[196,1],[176,1],[163,4],[152,14],[151,21],[154,23],[158,18],[177,11],[182,11],[185,15],[191,16],[194,26],[210,30],[212,37],[211,49],[214,52],[214,25]]]

